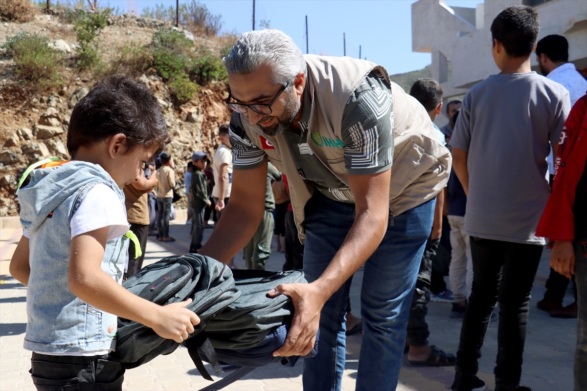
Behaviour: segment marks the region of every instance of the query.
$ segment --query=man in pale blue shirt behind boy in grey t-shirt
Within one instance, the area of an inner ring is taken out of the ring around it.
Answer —
[[[569,91],[571,106],[585,94],[587,90],[587,80],[581,73],[577,72],[575,64],[569,63],[569,43],[561,35],[548,35],[538,41],[536,45],[536,56],[540,72],[548,79],[562,84]],[[549,174],[554,174],[554,161],[552,152],[548,156]],[[574,283],[574,281],[573,281]],[[576,318],[577,302],[562,306],[562,300],[566,288],[569,285],[569,279],[562,274],[556,273],[551,268],[550,276],[546,281],[546,293],[544,298],[538,301],[537,305],[540,310],[548,311],[555,318]],[[576,295],[576,289],[575,289]]]

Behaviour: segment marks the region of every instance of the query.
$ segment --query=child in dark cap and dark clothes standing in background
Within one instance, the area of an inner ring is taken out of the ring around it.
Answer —
[[[201,151],[191,155],[193,172],[190,183],[190,208],[193,210],[190,253],[197,253],[202,247],[204,237],[204,211],[211,205],[208,195],[208,180],[204,174],[208,164],[208,156]]]

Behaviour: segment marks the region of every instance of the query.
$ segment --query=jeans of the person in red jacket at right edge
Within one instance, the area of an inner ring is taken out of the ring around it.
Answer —
[[[577,347],[575,390],[587,390],[587,239],[575,239],[575,282],[577,284]]]

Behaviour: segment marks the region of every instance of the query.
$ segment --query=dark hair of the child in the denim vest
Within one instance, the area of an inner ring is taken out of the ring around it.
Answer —
[[[156,145],[158,154],[171,142],[157,98],[145,84],[126,76],[98,81],[77,102],[69,120],[69,154],[119,133],[126,136],[129,152],[136,145]]]

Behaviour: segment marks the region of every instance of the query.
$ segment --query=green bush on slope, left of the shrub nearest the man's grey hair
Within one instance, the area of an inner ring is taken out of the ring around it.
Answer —
[[[194,45],[178,30],[159,29],[153,35],[151,53],[153,66],[163,80],[187,76],[192,59],[188,55]]]

